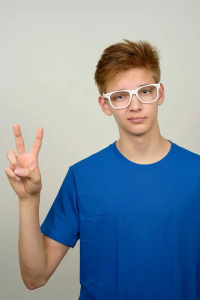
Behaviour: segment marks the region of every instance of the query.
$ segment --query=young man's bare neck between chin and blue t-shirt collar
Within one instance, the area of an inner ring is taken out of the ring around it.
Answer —
[[[116,146],[123,156],[139,164],[154,163],[162,159],[170,149],[170,141],[161,136],[159,127],[156,132],[144,135],[121,134]]]

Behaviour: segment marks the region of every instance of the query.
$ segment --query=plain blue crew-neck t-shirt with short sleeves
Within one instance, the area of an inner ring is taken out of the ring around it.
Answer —
[[[69,167],[41,232],[80,239],[79,300],[200,299],[200,155],[137,164],[113,142]]]

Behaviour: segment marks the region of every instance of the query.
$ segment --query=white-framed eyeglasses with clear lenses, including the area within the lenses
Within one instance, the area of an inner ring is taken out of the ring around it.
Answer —
[[[160,83],[152,83],[143,85],[132,90],[115,90],[109,93],[102,93],[107,98],[113,108],[120,109],[127,107],[132,99],[132,95],[136,95],[142,103],[151,103],[157,100],[159,94]]]

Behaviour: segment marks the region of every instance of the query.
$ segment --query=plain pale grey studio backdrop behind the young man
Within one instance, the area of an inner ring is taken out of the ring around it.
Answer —
[[[198,0],[0,0],[0,299],[77,300],[79,241],[47,284],[28,290],[18,263],[18,198],[7,180],[6,152],[18,123],[29,151],[38,127],[42,178],[40,223],[76,161],[118,139],[98,104],[95,65],[123,38],[147,39],[161,54],[165,100],[161,134],[200,154]],[[106,246],[106,245],[105,245]]]

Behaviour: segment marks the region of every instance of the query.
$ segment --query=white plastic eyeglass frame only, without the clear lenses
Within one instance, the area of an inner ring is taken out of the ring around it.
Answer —
[[[146,87],[146,86],[150,86],[150,85],[153,85],[153,86],[156,87],[156,89],[157,89],[157,97],[156,97],[154,100],[152,100],[152,101],[144,102],[144,101],[142,101],[142,100],[139,99],[137,91],[138,91],[140,88],[143,88],[143,87]],[[108,92],[108,93],[106,93],[106,94],[105,94],[105,93],[102,93],[102,96],[103,96],[104,98],[107,98],[107,99],[109,100],[109,103],[110,103],[110,105],[111,105],[113,108],[115,108],[115,109],[121,109],[121,108],[127,107],[127,106],[130,104],[130,102],[131,102],[131,100],[132,100],[132,95],[136,95],[137,99],[138,99],[140,102],[145,103],[145,104],[152,103],[152,102],[156,101],[156,100],[158,99],[158,96],[159,96],[159,88],[160,88],[160,82],[158,82],[158,83],[152,83],[152,84],[146,84],[146,85],[140,86],[140,87],[135,88],[135,89],[121,89],[121,90],[114,90],[114,91]],[[125,106],[123,106],[123,107],[114,107],[114,106],[112,105],[112,103],[111,103],[110,96],[111,96],[111,94],[113,94],[114,92],[120,92],[120,91],[127,91],[127,92],[129,92],[130,100],[129,100],[128,104],[125,105]]]

